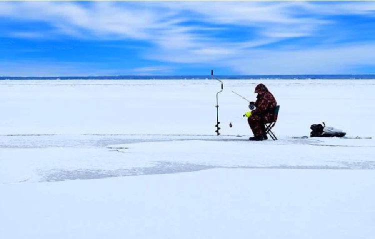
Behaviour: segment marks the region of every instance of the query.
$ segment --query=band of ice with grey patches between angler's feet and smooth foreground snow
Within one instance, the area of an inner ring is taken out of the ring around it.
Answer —
[[[375,168],[375,140],[359,138],[285,137],[250,142],[246,135],[23,134],[0,135],[0,149],[2,182],[97,179],[208,168]],[[359,151],[361,157],[356,156]]]

